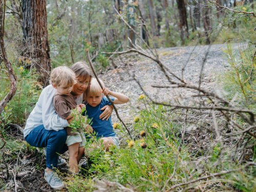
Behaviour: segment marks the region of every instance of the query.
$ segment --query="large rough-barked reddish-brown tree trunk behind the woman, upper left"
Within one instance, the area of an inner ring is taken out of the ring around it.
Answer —
[[[23,41],[24,56],[33,59],[32,66],[40,74],[39,81],[47,86],[48,72],[51,71],[50,47],[47,31],[46,0],[23,0]],[[33,48],[33,49],[31,49]]]

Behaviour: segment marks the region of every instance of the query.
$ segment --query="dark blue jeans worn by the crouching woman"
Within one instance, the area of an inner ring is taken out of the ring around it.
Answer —
[[[69,149],[65,144],[67,139],[66,130],[49,131],[45,129],[44,125],[39,125],[25,139],[34,147],[47,147],[46,166],[50,169],[58,167],[58,154],[63,154]]]

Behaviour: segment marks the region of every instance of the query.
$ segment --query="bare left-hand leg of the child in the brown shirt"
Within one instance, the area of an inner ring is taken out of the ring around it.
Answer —
[[[77,157],[78,157],[78,148],[79,143],[74,143],[69,145],[69,167],[71,172],[77,173],[79,172]]]

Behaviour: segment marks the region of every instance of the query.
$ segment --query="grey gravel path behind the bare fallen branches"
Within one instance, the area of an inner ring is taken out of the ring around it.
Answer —
[[[228,62],[220,48],[221,46],[214,45],[210,48],[209,46],[196,46],[194,51],[194,47],[165,48],[158,49],[158,53],[164,65],[181,77],[181,69],[192,52],[184,71],[184,80],[191,84],[198,84],[203,58],[206,50],[209,49],[203,69],[201,87],[217,91],[218,88],[215,89],[216,77],[228,69]],[[223,46],[222,48],[225,49],[225,47]],[[235,44],[233,47],[236,48],[238,45]],[[157,101],[177,101],[178,99],[182,104],[189,104],[191,100],[197,101],[194,97],[191,97],[191,95],[195,95],[196,91],[185,88],[161,89],[151,87],[152,85],[166,86],[169,83],[157,63],[144,56],[136,55],[130,56],[130,58],[129,56],[118,56],[114,59],[114,62],[118,67],[116,69],[109,67],[108,70],[99,72],[99,77],[103,79],[105,87],[110,88],[112,91],[123,92],[130,97],[128,103],[118,106],[120,117],[126,122],[131,122],[134,118],[135,114],[131,113],[131,108],[137,103],[138,96],[143,94],[129,73],[135,73],[136,78],[143,84],[147,94]],[[112,122],[116,121],[117,117],[113,112]]]

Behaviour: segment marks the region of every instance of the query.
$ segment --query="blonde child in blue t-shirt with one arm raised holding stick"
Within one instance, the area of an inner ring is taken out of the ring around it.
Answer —
[[[87,105],[82,106],[86,106],[87,115],[93,122],[91,125],[93,130],[97,137],[101,137],[100,140],[103,140],[104,149],[109,151],[110,145],[119,145],[119,139],[116,137],[116,133],[113,130],[111,117],[108,121],[106,119],[99,119],[99,116],[103,113],[100,109],[107,104],[111,105],[109,99],[104,97],[104,95],[111,95],[115,97],[111,99],[114,104],[126,103],[129,101],[129,97],[121,93],[110,91],[108,88],[104,87],[102,80],[100,80],[100,82],[103,86],[103,90],[99,86],[97,79],[92,79],[90,91],[87,95]]]

